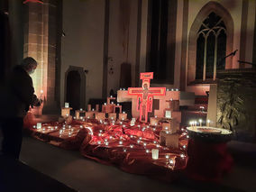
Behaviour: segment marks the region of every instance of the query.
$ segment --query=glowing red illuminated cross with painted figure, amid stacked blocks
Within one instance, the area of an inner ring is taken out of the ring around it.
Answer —
[[[153,72],[141,73],[142,87],[128,88],[128,95],[137,96],[137,110],[140,111],[140,121],[148,122],[148,113],[152,112],[153,96],[165,96],[165,87],[150,87]]]

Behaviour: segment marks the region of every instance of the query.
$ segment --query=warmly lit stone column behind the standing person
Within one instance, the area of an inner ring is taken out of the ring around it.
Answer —
[[[43,111],[55,113],[57,2],[44,0],[43,4],[28,2],[24,5],[24,57],[32,57],[39,63],[32,74],[37,96],[44,99]]]

